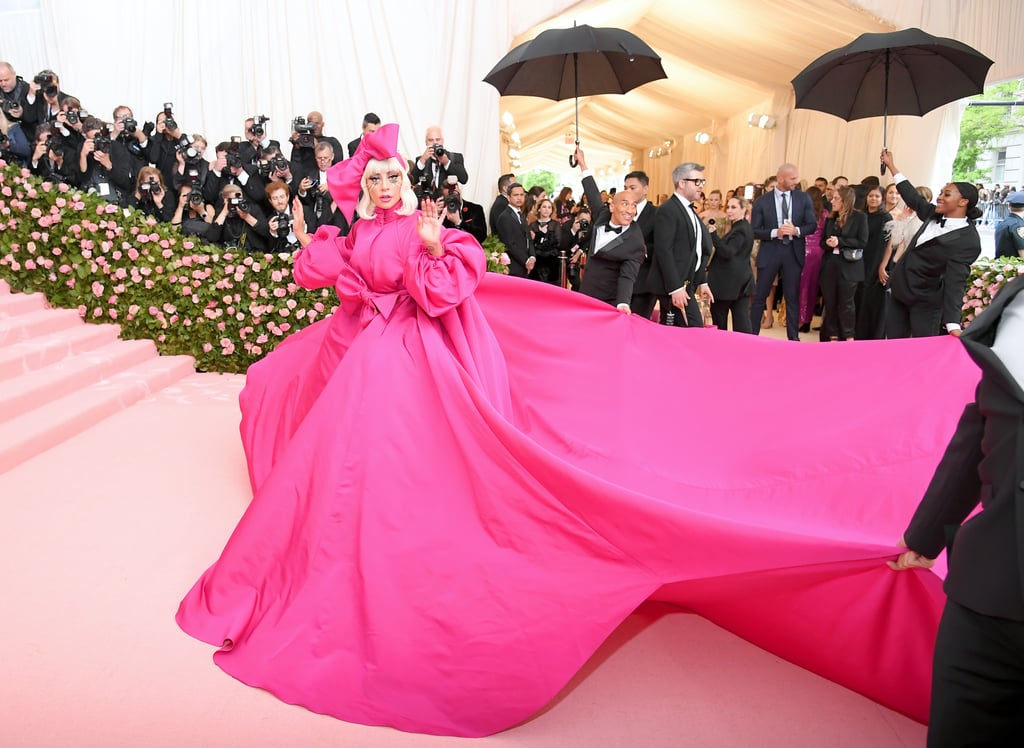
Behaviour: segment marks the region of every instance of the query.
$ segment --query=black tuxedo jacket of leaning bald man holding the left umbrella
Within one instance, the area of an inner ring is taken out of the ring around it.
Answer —
[[[636,221],[633,221],[623,230],[622,234],[595,252],[597,238],[608,225],[611,211],[601,204],[601,191],[597,189],[594,177],[585,176],[583,189],[587,194],[588,203],[602,207],[597,211],[590,232],[587,269],[584,272],[580,290],[588,296],[612,305],[628,304],[633,297],[633,286],[647,251],[643,243],[643,231]]]

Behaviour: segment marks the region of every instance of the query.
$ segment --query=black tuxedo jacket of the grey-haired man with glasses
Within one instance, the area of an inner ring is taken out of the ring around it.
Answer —
[[[654,214],[654,258],[647,276],[649,293],[668,296],[683,288],[688,281],[690,288],[687,293],[692,296],[695,287],[707,280],[712,243],[707,227],[701,227],[702,246],[696,246],[693,225],[698,220],[696,213],[685,207],[675,195],[657,207]]]

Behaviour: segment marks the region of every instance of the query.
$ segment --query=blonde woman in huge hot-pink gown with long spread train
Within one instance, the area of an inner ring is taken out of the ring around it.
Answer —
[[[483,736],[654,598],[924,718],[940,581],[884,560],[977,379],[956,341],[792,346],[486,276],[396,146],[331,170],[362,219],[295,278],[341,308],[250,369],[253,501],[179,625],[289,703]]]

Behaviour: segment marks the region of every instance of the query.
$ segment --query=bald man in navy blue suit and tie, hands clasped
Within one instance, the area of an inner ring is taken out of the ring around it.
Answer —
[[[800,274],[804,269],[805,237],[818,227],[810,197],[795,188],[800,171],[782,164],[775,172],[775,189],[758,198],[751,212],[758,250],[758,282],[751,305],[751,329],[761,332],[761,316],[775,276],[781,276],[785,298],[785,336],[800,340]]]

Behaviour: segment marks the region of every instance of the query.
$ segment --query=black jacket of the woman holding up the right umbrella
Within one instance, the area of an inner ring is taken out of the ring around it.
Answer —
[[[935,237],[922,245],[918,239],[935,217],[935,206],[908,180],[896,185],[900,197],[924,221],[889,274],[893,298],[907,306],[927,304],[942,309],[942,324],[959,324],[964,291],[971,263],[981,254],[981,237],[973,223]]]

